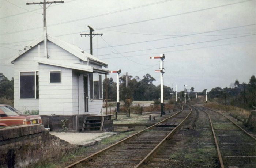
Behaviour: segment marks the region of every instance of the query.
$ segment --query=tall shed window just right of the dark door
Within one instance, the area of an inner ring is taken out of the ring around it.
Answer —
[[[102,75],[97,73],[90,73],[90,98],[91,99],[102,99]]]

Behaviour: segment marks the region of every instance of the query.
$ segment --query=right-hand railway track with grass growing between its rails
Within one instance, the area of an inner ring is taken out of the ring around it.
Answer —
[[[196,108],[209,117],[221,168],[256,167],[255,137],[217,111],[205,107]]]

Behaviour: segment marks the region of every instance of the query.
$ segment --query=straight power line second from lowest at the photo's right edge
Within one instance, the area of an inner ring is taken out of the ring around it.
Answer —
[[[213,42],[213,41],[220,41],[220,40],[226,40],[226,39],[239,38],[239,37],[248,37],[248,36],[252,36],[252,35],[256,35],[256,34],[242,35],[242,36],[237,36],[237,37],[222,38],[222,39],[209,40],[209,41],[201,41],[201,42],[188,43],[188,44],[181,44],[181,45],[175,45],[175,46],[166,46],[166,47],[157,47],[157,48],[152,48],[152,49],[126,51],[126,52],[122,52],[122,53],[103,54],[103,55],[98,55],[98,56],[108,56],[108,55],[123,54],[123,53],[133,53],[133,52],[138,52],[138,51],[147,51],[147,50],[163,49],[163,48],[170,48],[170,47],[186,46],[186,45],[193,45],[193,44],[200,44],[200,43],[206,43],[206,42]]]

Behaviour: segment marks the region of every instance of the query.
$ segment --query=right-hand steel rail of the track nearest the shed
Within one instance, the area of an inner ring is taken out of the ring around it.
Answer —
[[[188,106],[188,107],[189,107],[189,106]],[[171,134],[173,134],[174,131],[189,117],[189,115],[190,115],[191,112],[192,112],[192,108],[191,108],[191,107],[189,107],[189,108],[190,108],[190,112],[189,112],[189,114],[187,115],[187,117],[184,118],[172,131],[170,131],[170,133],[169,133],[168,135],[166,135],[166,137],[163,138],[163,140],[162,140],[161,142],[159,142],[159,144],[157,144],[157,146],[155,146],[155,148],[152,149],[152,150],[150,151],[150,153],[148,153],[147,156],[144,157],[144,159],[143,159],[142,161],[140,161],[140,163],[137,164],[134,168],[138,168],[138,167],[141,166],[143,163],[145,163],[146,160],[148,160],[148,159],[150,158],[150,156],[159,148],[159,146],[161,146],[161,145],[163,144],[163,142],[164,142]]]

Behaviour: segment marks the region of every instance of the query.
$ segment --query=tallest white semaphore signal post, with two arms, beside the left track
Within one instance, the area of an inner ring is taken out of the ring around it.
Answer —
[[[165,73],[165,68],[163,68],[163,60],[165,59],[165,54],[157,56],[157,57],[150,57],[150,59],[161,59],[160,61],[160,70],[155,70],[155,72],[161,72],[160,73],[160,91],[161,91],[161,116],[165,114],[164,112],[164,106],[163,103],[163,74]]]

